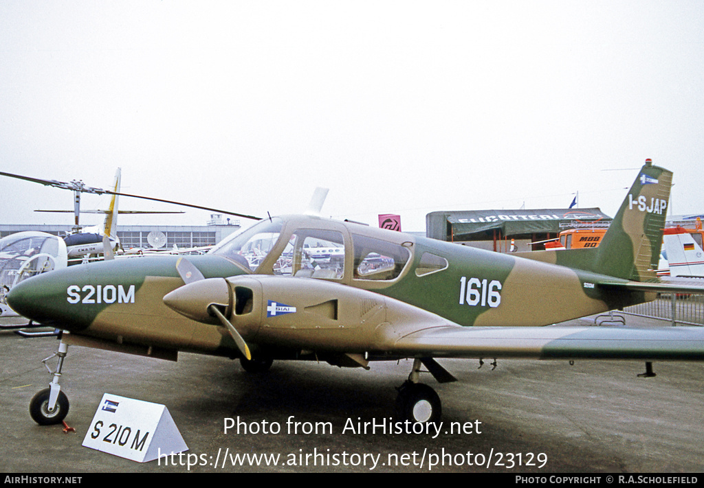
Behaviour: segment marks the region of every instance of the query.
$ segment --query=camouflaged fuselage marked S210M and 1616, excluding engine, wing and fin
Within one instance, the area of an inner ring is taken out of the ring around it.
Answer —
[[[313,245],[344,253],[316,260],[306,252]],[[53,271],[20,283],[8,302],[33,321],[75,335],[232,354],[225,328],[163,303],[184,284],[178,259],[134,257]],[[593,284],[605,277],[589,271],[318,217],[261,221],[212,253],[187,259],[205,278],[275,275],[303,290],[318,279],[391,297],[460,326],[542,326],[643,301],[642,294],[606,295]]]

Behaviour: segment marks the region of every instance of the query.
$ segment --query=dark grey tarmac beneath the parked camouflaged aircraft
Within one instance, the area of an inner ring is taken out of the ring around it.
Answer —
[[[593,325],[593,317],[568,324]],[[668,324],[629,316],[627,326]],[[380,427],[395,421],[395,387],[412,361],[372,363],[370,371],[279,361],[252,374],[220,357],[172,362],[71,346],[61,388],[75,432],[64,432],[37,425],[28,411],[51,380],[41,361],[57,346],[53,337],[0,331],[3,473],[704,470],[700,363],[655,363],[655,378],[639,378],[641,361],[500,360],[493,368],[485,360],[479,368],[477,360],[441,359],[459,381],[423,378],[442,400],[443,425],[415,433]],[[83,447],[106,392],[166,406],[188,451],[138,463]],[[228,421],[240,432],[226,431]]]

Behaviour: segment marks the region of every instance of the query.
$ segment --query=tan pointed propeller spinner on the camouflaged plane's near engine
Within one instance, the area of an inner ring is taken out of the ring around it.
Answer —
[[[231,307],[230,285],[225,278],[208,278],[183,285],[167,293],[164,304],[179,314],[199,322],[217,322],[218,319],[208,312],[212,304]],[[229,312],[226,312],[227,316]]]

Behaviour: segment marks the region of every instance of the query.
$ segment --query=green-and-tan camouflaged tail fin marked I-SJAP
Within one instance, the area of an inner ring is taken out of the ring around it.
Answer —
[[[646,281],[658,269],[672,172],[646,160],[596,249],[592,271]]]

